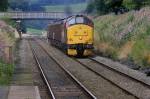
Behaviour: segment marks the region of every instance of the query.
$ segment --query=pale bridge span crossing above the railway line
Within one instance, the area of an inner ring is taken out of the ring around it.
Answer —
[[[83,13],[73,13],[69,15],[76,15]],[[20,20],[34,20],[34,19],[63,19],[69,16],[64,12],[0,12],[0,18],[20,19]]]

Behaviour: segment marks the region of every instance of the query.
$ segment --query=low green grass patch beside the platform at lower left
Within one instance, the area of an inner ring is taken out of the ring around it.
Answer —
[[[0,85],[8,85],[11,81],[14,66],[0,61]]]

